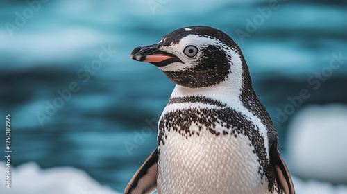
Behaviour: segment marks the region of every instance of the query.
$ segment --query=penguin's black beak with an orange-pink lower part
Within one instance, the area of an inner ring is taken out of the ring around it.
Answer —
[[[174,58],[169,53],[160,51],[160,46],[162,46],[161,42],[149,46],[139,46],[131,52],[130,58],[141,62],[162,62]]]

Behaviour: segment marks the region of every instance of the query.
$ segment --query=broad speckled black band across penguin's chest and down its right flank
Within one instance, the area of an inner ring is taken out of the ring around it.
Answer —
[[[236,112],[230,107],[223,107],[221,109],[207,109],[207,108],[189,108],[180,109],[164,114],[159,123],[159,136],[158,146],[160,143],[165,144],[165,136],[169,132],[178,132],[180,135],[186,137],[192,136],[192,131],[189,127],[194,123],[198,126],[205,126],[211,134],[219,135],[236,135],[244,134],[251,140],[251,145],[255,150],[261,168],[258,170],[261,178],[265,175],[269,179],[270,164],[266,158],[266,148],[264,147],[264,137],[259,134],[256,127],[251,121],[248,121],[244,114]],[[225,132],[217,132],[214,130],[216,124],[226,123]]]

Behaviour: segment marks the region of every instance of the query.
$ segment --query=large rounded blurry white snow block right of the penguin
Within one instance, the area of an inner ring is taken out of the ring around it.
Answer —
[[[305,107],[288,130],[287,162],[303,179],[347,184],[347,106]]]

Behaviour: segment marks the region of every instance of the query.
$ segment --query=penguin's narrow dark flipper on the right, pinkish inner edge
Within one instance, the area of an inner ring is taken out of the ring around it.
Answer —
[[[295,194],[294,185],[291,181],[288,168],[285,165],[285,161],[283,161],[275,143],[273,143],[270,148],[270,161],[275,168],[276,177],[282,191],[284,191],[286,194]]]

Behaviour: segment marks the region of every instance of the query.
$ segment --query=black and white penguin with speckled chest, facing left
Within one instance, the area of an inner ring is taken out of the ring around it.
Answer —
[[[189,26],[130,58],[154,64],[176,86],[160,116],[157,148],[125,194],[295,193],[278,134],[231,37]]]

